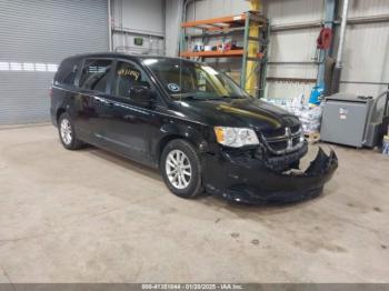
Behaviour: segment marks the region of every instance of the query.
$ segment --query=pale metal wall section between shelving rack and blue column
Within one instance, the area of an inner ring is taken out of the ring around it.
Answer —
[[[266,1],[263,10],[270,19],[271,27],[275,28],[323,19],[323,1]],[[272,30],[269,56],[271,64],[268,68],[268,77],[316,79],[318,66],[313,61],[319,31],[318,27],[299,30]],[[301,62],[301,64],[288,62]],[[308,97],[312,86],[313,83],[269,81],[267,96],[282,99],[300,94]]]

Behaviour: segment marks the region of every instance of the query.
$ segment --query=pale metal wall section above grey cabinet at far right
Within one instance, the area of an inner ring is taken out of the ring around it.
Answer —
[[[388,16],[388,0],[353,0],[349,19]],[[389,83],[389,22],[347,27],[342,81]],[[388,86],[341,83],[340,90],[376,96]]]

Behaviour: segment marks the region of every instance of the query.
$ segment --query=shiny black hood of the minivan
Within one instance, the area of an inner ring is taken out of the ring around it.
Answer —
[[[299,124],[288,111],[258,99],[190,100],[178,102],[189,120],[209,126],[246,127],[256,130],[279,129]]]

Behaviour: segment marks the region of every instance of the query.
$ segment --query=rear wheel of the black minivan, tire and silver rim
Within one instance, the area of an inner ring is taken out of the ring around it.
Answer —
[[[73,122],[67,112],[62,113],[58,119],[58,133],[63,148],[67,150],[82,148],[83,143],[77,138]]]

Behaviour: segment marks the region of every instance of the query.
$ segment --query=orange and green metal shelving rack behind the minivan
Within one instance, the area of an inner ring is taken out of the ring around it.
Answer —
[[[196,28],[201,33],[188,33],[189,29]],[[258,29],[257,33],[252,33]],[[222,36],[223,39],[228,34],[242,33],[243,48],[227,51],[190,51],[189,43],[196,39],[215,38]],[[256,37],[252,37],[256,34]],[[238,16],[228,16],[221,18],[212,18],[205,20],[189,21],[181,24],[180,36],[180,57],[197,58],[205,60],[206,58],[241,58],[240,86],[255,97],[261,98],[266,88],[266,73],[268,63],[268,46],[270,37],[269,19],[265,18],[256,11],[248,11]],[[252,47],[255,46],[255,53]],[[251,50],[249,50],[251,48]],[[251,51],[251,53],[250,53]],[[252,66],[250,64],[252,62]],[[248,68],[250,67],[250,70]],[[255,88],[249,79],[252,74],[258,76]]]

